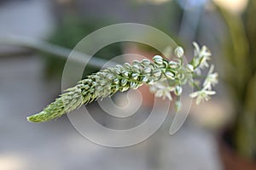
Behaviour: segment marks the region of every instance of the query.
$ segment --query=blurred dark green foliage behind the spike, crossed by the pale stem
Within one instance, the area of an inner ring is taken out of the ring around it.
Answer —
[[[64,17],[63,20],[61,20],[60,25],[57,26],[55,31],[50,34],[48,42],[73,49],[84,37],[103,26],[108,26],[108,22],[106,20],[82,20],[78,17]],[[119,54],[121,54],[120,43],[113,43],[99,50],[95,56],[102,59],[111,59],[113,56],[117,56]],[[50,78],[61,75],[66,59],[60,59],[53,54],[44,53],[43,55],[46,64],[46,77]],[[96,71],[98,71],[97,68],[87,65],[84,70],[84,75],[88,75]]]

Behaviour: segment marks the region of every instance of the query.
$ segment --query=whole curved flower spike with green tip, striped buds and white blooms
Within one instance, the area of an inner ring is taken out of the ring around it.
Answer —
[[[177,47],[174,51],[176,58],[173,60],[163,59],[160,55],[155,55],[153,61],[143,59],[134,60],[131,64],[116,65],[98,71],[78,82],[73,88],[68,88],[64,94],[55,99],[44,111],[27,117],[29,122],[46,122],[55,119],[63,114],[86,105],[96,99],[105,98],[116,92],[124,92],[128,89],[137,89],[143,84],[148,84],[151,92],[156,97],[172,100],[172,94],[177,97],[182,94],[182,86],[187,82],[193,82],[192,77],[196,74],[196,69],[201,69],[202,65],[207,65],[207,60],[211,55],[207,48],[199,48],[195,45],[195,58],[183,66],[183,48]],[[191,94],[197,97],[196,101],[209,99],[208,95],[214,94],[212,85],[217,81],[217,73],[212,73],[211,67],[201,91]],[[197,102],[198,103],[198,102]]]

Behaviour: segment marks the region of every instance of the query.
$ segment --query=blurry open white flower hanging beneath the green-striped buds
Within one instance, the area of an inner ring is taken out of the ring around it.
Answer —
[[[149,88],[150,92],[154,93],[155,97],[172,100],[171,92],[174,88],[164,85],[163,83],[156,82]]]

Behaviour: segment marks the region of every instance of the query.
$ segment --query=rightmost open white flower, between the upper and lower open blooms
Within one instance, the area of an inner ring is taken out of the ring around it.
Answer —
[[[203,83],[204,89],[212,90],[212,86],[215,86],[218,83],[218,73],[217,72],[212,73],[213,70],[214,70],[214,65],[211,65],[207,74],[207,78]]]

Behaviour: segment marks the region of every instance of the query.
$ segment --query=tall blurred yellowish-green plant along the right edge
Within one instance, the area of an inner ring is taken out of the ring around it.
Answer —
[[[224,80],[232,94],[236,120],[231,143],[241,156],[256,156],[256,1],[242,14],[219,8],[228,27],[224,42]]]

